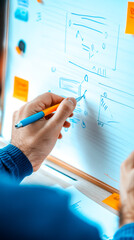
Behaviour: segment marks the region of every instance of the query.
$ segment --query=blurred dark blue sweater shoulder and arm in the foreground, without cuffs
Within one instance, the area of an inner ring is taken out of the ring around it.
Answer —
[[[69,209],[69,196],[49,187],[0,183],[0,238],[100,240],[98,230]]]

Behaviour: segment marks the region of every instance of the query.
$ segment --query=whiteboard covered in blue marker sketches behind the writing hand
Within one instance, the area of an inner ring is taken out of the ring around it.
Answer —
[[[126,0],[10,0],[2,136],[11,138],[14,77],[28,100],[44,92],[86,98],[51,155],[119,189],[120,165],[134,149],[134,37]],[[26,19],[16,17],[25,12]],[[26,51],[15,47],[23,39]]]

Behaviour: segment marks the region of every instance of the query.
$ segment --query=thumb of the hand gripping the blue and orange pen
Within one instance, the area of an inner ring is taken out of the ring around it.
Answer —
[[[66,119],[72,114],[76,107],[75,98],[66,98],[59,105],[56,113],[51,118],[52,122],[58,126],[62,126]]]

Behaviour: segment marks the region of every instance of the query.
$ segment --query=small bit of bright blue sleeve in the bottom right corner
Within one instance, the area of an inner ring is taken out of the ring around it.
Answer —
[[[114,240],[134,240],[134,223],[126,224],[115,234]]]

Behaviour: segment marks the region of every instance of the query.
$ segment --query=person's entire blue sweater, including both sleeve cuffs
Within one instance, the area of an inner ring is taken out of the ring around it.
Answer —
[[[96,227],[71,212],[67,193],[19,185],[32,171],[18,148],[10,144],[0,149],[0,239],[99,240]],[[134,224],[122,227],[117,239],[134,239]]]

